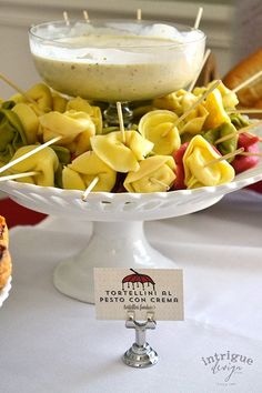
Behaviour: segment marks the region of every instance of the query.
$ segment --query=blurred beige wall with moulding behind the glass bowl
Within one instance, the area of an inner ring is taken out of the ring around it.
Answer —
[[[200,29],[208,37],[218,62],[220,75],[233,64],[233,20],[235,7],[231,1],[161,1],[161,0],[1,0],[0,1],[0,72],[27,90],[39,81],[28,44],[28,29],[31,24],[69,17],[82,18],[88,10],[90,18],[135,18],[137,9],[143,19],[165,20],[192,26],[199,7],[203,7]],[[7,99],[13,91],[0,82],[0,97]]]

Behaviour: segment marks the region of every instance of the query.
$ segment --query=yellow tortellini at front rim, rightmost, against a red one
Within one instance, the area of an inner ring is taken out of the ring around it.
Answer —
[[[203,185],[219,185],[234,179],[234,169],[228,161],[208,164],[220,158],[212,145],[201,135],[195,135],[189,143],[184,157],[184,184],[188,189]]]

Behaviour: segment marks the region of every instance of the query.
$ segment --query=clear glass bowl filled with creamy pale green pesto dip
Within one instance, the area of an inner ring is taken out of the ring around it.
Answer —
[[[115,102],[185,88],[204,52],[202,31],[153,21],[48,22],[29,32],[41,78],[54,90]]]

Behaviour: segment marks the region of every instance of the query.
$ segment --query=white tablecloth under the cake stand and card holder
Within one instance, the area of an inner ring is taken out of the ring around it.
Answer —
[[[49,218],[11,230],[13,281],[0,309],[0,392],[261,393],[261,223],[262,195],[250,191],[202,212],[145,223],[152,245],[184,271],[185,321],[158,322],[148,332],[160,361],[144,370],[121,361],[133,330],[97,321],[93,305],[53,288],[54,266],[87,244],[91,223]],[[213,373],[206,357],[215,353],[239,354],[242,362],[220,362],[228,370]],[[241,370],[225,381],[232,365]]]

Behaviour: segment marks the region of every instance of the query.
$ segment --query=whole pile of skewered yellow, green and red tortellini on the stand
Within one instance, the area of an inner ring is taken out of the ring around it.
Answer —
[[[123,134],[104,127],[100,107],[38,83],[27,91],[34,103],[21,94],[0,101],[0,165],[54,137],[60,140],[1,175],[34,171],[18,181],[82,191],[97,178],[93,192],[163,192],[230,182],[234,158],[218,159],[238,149],[238,130],[249,124],[229,112],[238,104],[235,93],[221,83],[178,121],[210,85],[137,105],[135,122]]]

